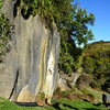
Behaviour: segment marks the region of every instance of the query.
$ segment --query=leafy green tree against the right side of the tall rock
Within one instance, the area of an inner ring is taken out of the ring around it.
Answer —
[[[88,25],[94,25],[94,14],[88,14],[86,10],[74,6],[69,7],[68,18],[65,15],[66,18],[59,22],[62,37],[59,69],[65,73],[73,73],[81,66],[82,50],[77,45],[86,45],[94,38],[91,30],[88,29]]]

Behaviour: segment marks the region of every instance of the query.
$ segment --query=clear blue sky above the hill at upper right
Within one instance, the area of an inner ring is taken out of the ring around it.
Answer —
[[[110,41],[110,0],[78,0],[81,8],[96,16],[95,25],[90,28],[95,41]]]

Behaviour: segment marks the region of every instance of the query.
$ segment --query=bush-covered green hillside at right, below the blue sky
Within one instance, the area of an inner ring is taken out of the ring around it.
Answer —
[[[98,88],[108,91],[110,82],[110,42],[97,42],[89,44],[85,51],[82,68],[92,75]]]

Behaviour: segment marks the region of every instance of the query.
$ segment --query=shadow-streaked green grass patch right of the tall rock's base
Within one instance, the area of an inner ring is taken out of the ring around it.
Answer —
[[[58,102],[62,110],[107,110],[102,105],[94,106],[82,100],[61,99]]]

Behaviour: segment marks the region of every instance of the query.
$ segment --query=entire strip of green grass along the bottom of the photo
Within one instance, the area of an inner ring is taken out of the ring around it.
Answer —
[[[62,98],[54,99],[53,107],[20,107],[9,100],[0,98],[0,110],[109,110],[103,105],[94,106],[82,100],[70,100]]]

